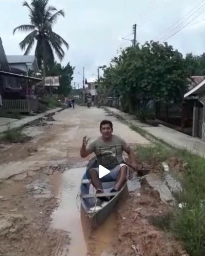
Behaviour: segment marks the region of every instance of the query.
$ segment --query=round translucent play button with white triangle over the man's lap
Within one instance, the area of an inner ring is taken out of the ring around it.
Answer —
[[[116,178],[120,171],[120,163],[112,155],[112,152],[106,151],[104,154],[91,158],[86,167],[86,179],[91,182],[91,175],[99,178],[103,188],[112,188],[116,184]]]

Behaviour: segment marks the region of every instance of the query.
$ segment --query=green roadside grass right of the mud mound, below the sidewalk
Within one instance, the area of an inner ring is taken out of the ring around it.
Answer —
[[[170,162],[177,158],[181,164],[178,178],[181,190],[174,193],[175,206],[168,216],[153,218],[152,224],[170,230],[179,238],[191,256],[205,255],[205,158],[184,149],[162,144],[136,148],[139,161]],[[182,205],[179,209],[178,205]]]

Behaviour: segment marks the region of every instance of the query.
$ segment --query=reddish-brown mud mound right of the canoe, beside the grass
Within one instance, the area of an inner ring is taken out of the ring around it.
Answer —
[[[150,216],[164,215],[169,206],[160,194],[142,182],[142,188],[130,194],[117,211],[117,226],[112,249],[114,255],[124,256],[182,256],[185,251],[169,233],[158,230]],[[140,197],[137,193],[140,192]]]

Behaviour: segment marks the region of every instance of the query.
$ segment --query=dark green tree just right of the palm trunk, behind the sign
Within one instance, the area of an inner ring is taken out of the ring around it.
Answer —
[[[47,67],[46,73],[48,76],[59,76],[59,94],[67,96],[71,92],[74,69],[75,67],[72,67],[70,63],[66,66],[62,66],[57,62]]]

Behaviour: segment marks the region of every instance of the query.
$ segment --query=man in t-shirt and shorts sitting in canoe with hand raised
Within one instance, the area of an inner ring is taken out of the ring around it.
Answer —
[[[118,166],[115,166],[112,170],[109,169],[111,171],[109,175],[113,180],[116,180],[116,185],[110,192],[117,192],[122,188],[124,182],[126,182],[128,174],[128,166],[122,163],[122,152],[125,151],[128,154],[132,166],[136,168],[134,150],[128,146],[125,140],[112,134],[113,127],[111,121],[103,120],[100,124],[100,132],[102,136],[94,140],[88,147],[87,143],[89,139],[87,140],[86,136],[83,138],[83,145],[81,147],[80,154],[82,158],[85,158],[93,152],[95,152],[97,157],[109,153],[117,160]],[[106,158],[104,158],[104,160],[106,161]],[[102,165],[109,166],[109,163],[104,162]],[[103,187],[98,172],[99,168],[91,168],[89,170],[91,182],[97,189],[97,193],[103,193]],[[101,199],[105,200],[106,198]]]

